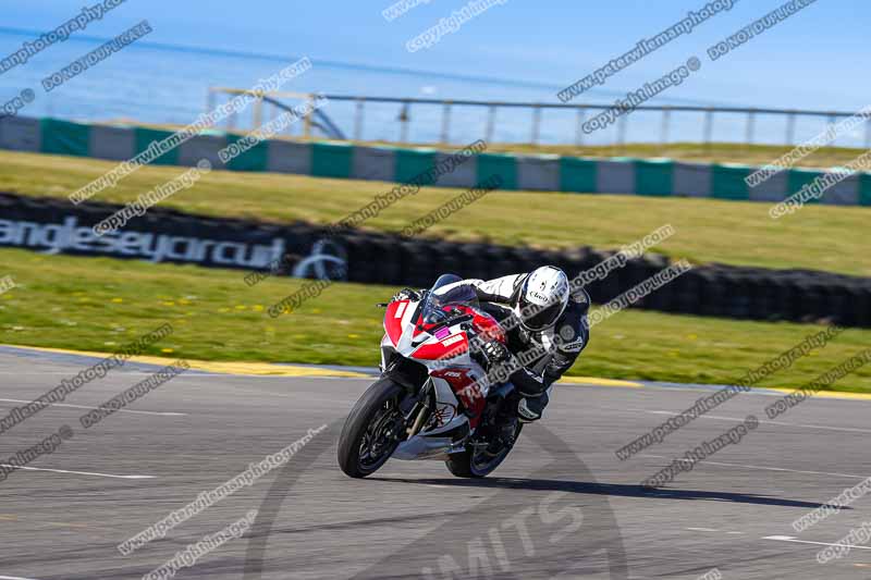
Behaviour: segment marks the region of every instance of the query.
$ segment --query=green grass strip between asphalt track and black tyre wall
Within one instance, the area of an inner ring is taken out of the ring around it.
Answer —
[[[266,309],[302,284],[245,272],[0,249],[0,343],[111,351],[163,322],[174,333],[147,353],[204,360],[376,366],[383,310],[396,288],[334,284],[291,314]],[[592,330],[569,374],[729,383],[821,326],[628,310]],[[797,387],[861,351],[871,331],[849,330],[760,386]],[[871,368],[834,390],[871,393]]]

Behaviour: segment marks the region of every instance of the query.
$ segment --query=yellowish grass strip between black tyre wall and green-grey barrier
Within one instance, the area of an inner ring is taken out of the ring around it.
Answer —
[[[0,190],[63,198],[115,163],[93,159],[0,152]],[[127,202],[185,171],[146,166],[97,200]],[[161,207],[217,217],[271,222],[332,223],[365,206],[392,184],[275,173],[214,171]],[[461,189],[425,188],[364,226],[401,231]],[[809,206],[773,221],[759,202],[697,198],[492,193],[436,224],[425,235],[548,248],[614,249],[671,223],[677,234],[652,251],[697,263],[807,268],[871,276],[871,255],[859,234],[871,208]]]

